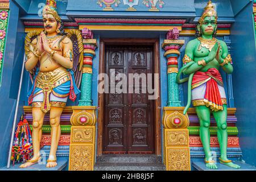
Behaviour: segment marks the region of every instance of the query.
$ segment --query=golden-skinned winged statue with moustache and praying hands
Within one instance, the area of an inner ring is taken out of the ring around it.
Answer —
[[[56,1],[47,0],[43,9],[44,31],[31,31],[25,40],[26,69],[32,88],[28,104],[32,105],[32,142],[34,156],[22,164],[26,168],[38,163],[44,115],[49,111],[51,150],[46,167],[57,166],[56,150],[60,139],[60,115],[69,99],[76,100],[82,76],[83,44],[79,30],[64,33],[56,10]]]

